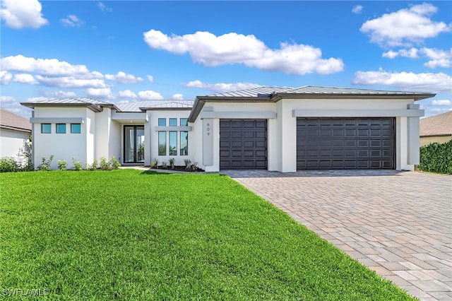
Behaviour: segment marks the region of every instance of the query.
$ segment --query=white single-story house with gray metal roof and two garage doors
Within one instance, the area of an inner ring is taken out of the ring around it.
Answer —
[[[191,100],[114,104],[90,98],[22,102],[33,109],[35,163],[54,155],[123,165],[169,158],[207,172],[263,169],[414,170],[417,100],[431,93],[262,86]],[[53,168],[57,163],[53,163]]]

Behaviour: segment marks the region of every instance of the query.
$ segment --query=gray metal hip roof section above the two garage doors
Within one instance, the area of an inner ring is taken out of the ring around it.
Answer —
[[[423,100],[432,98],[435,94],[421,92],[387,91],[355,88],[335,88],[314,85],[303,85],[299,88],[278,88],[262,86],[247,90],[239,90],[230,93],[217,93],[206,96],[198,96],[189,116],[189,122],[194,122],[206,102],[278,102],[283,98],[405,98]]]

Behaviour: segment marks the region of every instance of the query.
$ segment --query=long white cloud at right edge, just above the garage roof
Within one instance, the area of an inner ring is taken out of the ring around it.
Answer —
[[[355,85],[388,85],[401,90],[452,93],[452,76],[446,73],[412,73],[388,71],[357,71]]]

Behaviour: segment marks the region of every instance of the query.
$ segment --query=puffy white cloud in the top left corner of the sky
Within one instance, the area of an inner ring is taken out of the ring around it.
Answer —
[[[37,0],[3,0],[0,18],[11,28],[40,28],[49,23],[42,18],[42,6]]]

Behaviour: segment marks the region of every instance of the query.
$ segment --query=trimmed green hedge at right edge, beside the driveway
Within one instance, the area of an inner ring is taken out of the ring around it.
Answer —
[[[452,175],[452,141],[421,146],[419,170]]]

